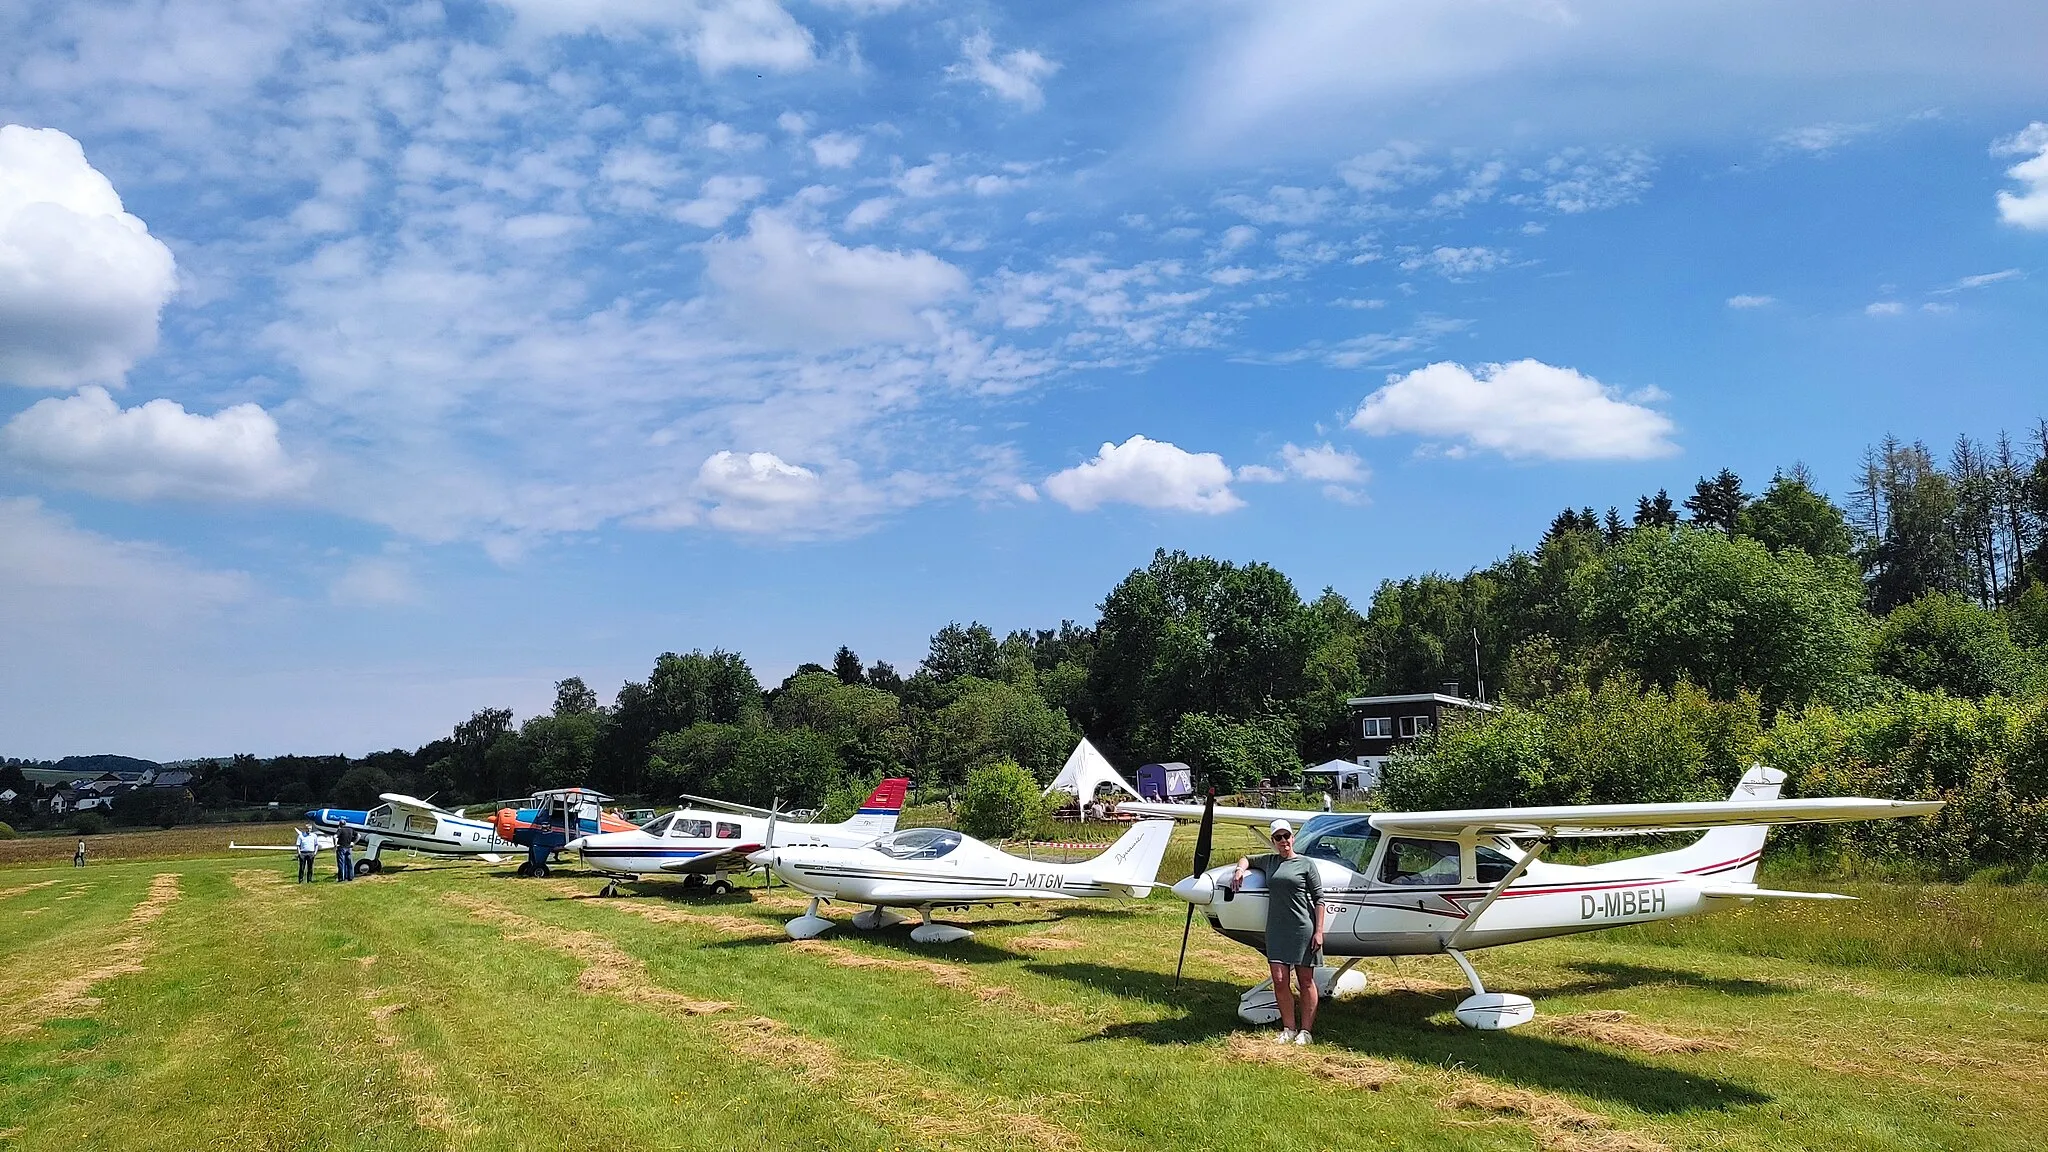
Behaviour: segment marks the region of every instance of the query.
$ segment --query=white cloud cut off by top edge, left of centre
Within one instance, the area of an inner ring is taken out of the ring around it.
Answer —
[[[776,0],[502,0],[537,33],[631,37],[670,33],[705,72],[813,61],[811,33]]]

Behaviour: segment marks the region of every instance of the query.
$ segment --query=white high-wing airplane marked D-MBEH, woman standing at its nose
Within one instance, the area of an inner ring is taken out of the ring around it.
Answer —
[[[1225,937],[1264,951],[1264,875],[1231,892],[1235,861],[1208,869],[1210,822],[1247,824],[1266,834],[1274,820],[1298,826],[1294,851],[1323,875],[1325,957],[1343,968],[1319,968],[1323,994],[1364,990],[1352,968],[1370,955],[1448,953],[1473,986],[1458,1021],[1477,1029],[1528,1023],[1528,996],[1487,992],[1466,951],[1589,933],[1618,924],[1716,912],[1751,900],[1851,900],[1831,892],[1774,892],[1755,886],[1763,836],[1774,824],[1833,824],[1927,816],[1942,801],[1901,799],[1778,799],[1784,773],[1755,765],[1724,801],[1585,804],[1559,808],[1479,808],[1466,812],[1290,812],[1278,808],[1214,808],[1126,801],[1141,816],[1200,818],[1194,875],[1174,894],[1200,908]],[[1565,836],[1628,836],[1706,830],[1692,845],[1604,865],[1542,863],[1544,849]],[[1186,957],[1186,941],[1182,943]],[[1280,1017],[1272,982],[1237,1002],[1247,1023]]]

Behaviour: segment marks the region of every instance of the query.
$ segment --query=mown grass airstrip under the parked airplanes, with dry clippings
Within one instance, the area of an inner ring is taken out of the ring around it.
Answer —
[[[1186,873],[1188,838],[1163,875]],[[219,834],[225,845],[225,834]],[[1235,853],[1225,840],[1219,853]],[[786,888],[279,855],[0,869],[0,1148],[2036,1148],[2040,888],[1841,886],[1479,953],[1536,1023],[1475,1033],[1446,959],[1368,963],[1317,1043],[1182,904],[954,914],[791,943]],[[1219,855],[1219,859],[1223,859]],[[408,857],[397,857],[408,861]],[[1765,875],[1765,879],[1772,879]],[[1782,877],[1780,877],[1782,879]],[[840,912],[844,916],[844,910]]]

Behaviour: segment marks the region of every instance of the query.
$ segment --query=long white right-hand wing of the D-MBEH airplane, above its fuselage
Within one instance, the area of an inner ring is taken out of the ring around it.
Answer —
[[[1554,808],[1470,808],[1462,812],[1380,812],[1372,826],[1397,836],[1626,836],[1634,832],[1700,832],[1731,824],[1843,824],[1931,816],[1939,799],[1704,799],[1688,804],[1565,804]],[[1223,810],[1217,810],[1223,818]]]

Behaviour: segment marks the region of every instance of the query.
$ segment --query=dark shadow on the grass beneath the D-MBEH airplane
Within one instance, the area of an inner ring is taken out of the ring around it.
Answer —
[[[1096,1039],[1139,1039],[1145,1043],[1194,1043],[1243,1027],[1237,1021],[1237,984],[1186,978],[1174,986],[1163,972],[1106,968],[1100,963],[1030,963],[1059,980],[1087,988],[1184,1009],[1184,1015],[1110,1025]],[[1655,970],[1651,970],[1655,972]],[[1317,1043],[1331,1043],[1389,1060],[1460,1066],[1507,1084],[1550,1093],[1577,1093],[1636,1111],[1671,1115],[1718,1111],[1769,1103],[1747,1084],[1645,1064],[1595,1047],[1550,1039],[1542,1033],[1473,1031],[1444,1013],[1458,992],[1368,992],[1341,1002],[1325,1002],[1315,1023]]]

